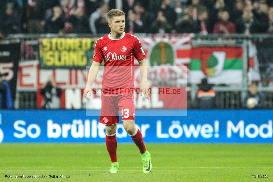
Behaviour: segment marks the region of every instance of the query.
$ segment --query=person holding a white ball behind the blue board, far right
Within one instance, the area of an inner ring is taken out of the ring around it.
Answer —
[[[265,96],[258,92],[256,83],[252,83],[249,87],[246,98],[244,99],[243,107],[247,109],[262,109]]]

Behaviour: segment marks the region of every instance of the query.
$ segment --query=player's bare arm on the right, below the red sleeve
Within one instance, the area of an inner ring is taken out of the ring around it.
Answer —
[[[142,96],[142,93],[144,94],[146,99],[150,99],[150,89],[147,83],[147,64],[145,62],[145,59],[141,59],[138,61],[140,65],[140,75],[141,75],[141,85],[140,85],[140,96]]]

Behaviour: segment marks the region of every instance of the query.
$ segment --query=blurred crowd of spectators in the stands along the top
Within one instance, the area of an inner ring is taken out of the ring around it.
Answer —
[[[129,33],[273,33],[272,0],[121,0]],[[2,0],[0,37],[108,33],[116,0]]]

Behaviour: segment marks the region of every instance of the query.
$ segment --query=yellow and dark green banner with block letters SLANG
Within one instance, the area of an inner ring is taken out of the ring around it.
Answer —
[[[93,62],[98,38],[42,38],[39,45],[42,69],[85,69]]]

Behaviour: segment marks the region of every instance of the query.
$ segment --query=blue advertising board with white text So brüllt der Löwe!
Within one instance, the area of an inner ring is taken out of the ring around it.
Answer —
[[[171,112],[171,110],[167,110]],[[187,110],[187,116],[145,116],[166,110],[137,110],[136,126],[153,143],[273,143],[272,110]],[[105,142],[99,110],[0,110],[0,143]],[[118,142],[132,142],[117,124]]]

